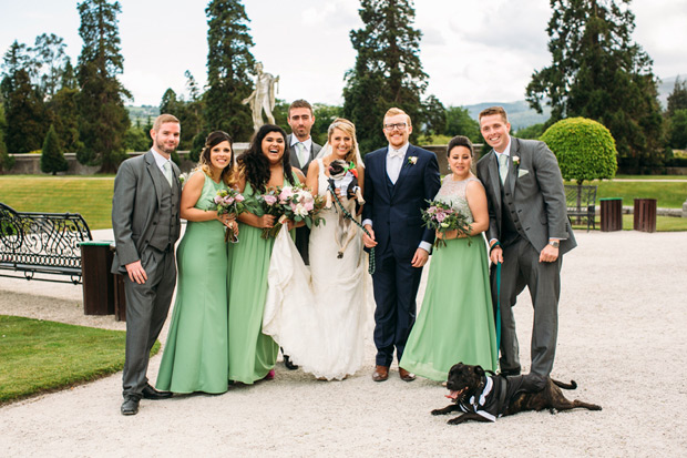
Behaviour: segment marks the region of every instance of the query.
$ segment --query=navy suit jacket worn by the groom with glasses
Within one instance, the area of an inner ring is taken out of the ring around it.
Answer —
[[[372,220],[377,261],[387,256],[411,259],[421,241],[434,242],[434,231],[422,226],[422,211],[441,186],[437,155],[409,145],[403,166],[390,189],[387,175],[389,147],[365,156],[365,206],[362,218]],[[411,157],[417,157],[411,163]]]

